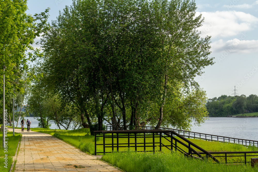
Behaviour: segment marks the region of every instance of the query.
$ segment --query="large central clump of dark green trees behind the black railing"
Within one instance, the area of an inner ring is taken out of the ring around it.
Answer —
[[[193,1],[74,0],[44,31],[43,85],[72,102],[91,133],[104,118],[116,129],[161,125],[163,108],[166,125],[200,124],[205,94],[194,77],[213,58],[196,8]]]

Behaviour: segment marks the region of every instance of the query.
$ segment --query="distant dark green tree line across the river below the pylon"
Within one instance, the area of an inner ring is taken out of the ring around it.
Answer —
[[[209,116],[225,117],[245,112],[258,112],[258,96],[251,94],[248,97],[242,94],[241,96],[221,95],[214,97],[211,102],[206,105]]]

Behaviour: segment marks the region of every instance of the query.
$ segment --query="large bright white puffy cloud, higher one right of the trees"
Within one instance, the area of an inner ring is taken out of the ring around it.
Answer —
[[[204,17],[201,36],[230,37],[253,29],[258,18],[239,11],[196,12]]]

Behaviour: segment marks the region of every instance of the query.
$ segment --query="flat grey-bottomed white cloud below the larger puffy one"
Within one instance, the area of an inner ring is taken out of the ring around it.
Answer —
[[[243,40],[245,34],[237,39],[223,41],[222,39],[211,43],[212,52],[228,52],[228,53],[257,53],[258,40]]]

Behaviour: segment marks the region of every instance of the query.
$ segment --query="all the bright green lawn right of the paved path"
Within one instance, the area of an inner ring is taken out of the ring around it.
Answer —
[[[53,129],[41,129],[41,128],[33,128],[33,131],[37,132],[42,132],[42,133],[47,133],[50,135],[53,135],[66,143],[69,143],[76,148],[82,150],[83,152],[94,154],[94,136],[90,136],[90,131],[89,129],[78,129],[78,130],[53,130]],[[119,134],[120,136],[120,134]],[[97,144],[103,143],[102,137],[97,137]],[[200,139],[188,139],[191,142],[195,143],[196,145],[200,146],[204,150],[207,150],[209,152],[224,152],[224,151],[258,151],[257,147],[255,146],[244,146],[240,144],[233,144],[233,143],[222,143],[222,142],[209,142],[205,140],[200,140]],[[155,142],[158,142],[159,138],[155,138]],[[127,138],[119,138],[119,143],[125,143],[125,146],[127,145]],[[137,138],[137,143],[143,142],[143,138]],[[146,148],[146,150],[152,150],[152,138],[146,138],[146,142],[150,142],[151,147]],[[164,141],[163,142],[166,145],[170,145],[169,141]],[[111,144],[112,141],[111,139],[106,139],[105,143]],[[116,143],[116,138],[114,139],[114,143]],[[134,138],[130,138],[130,143],[134,143]],[[184,149],[187,151],[187,148],[184,148],[182,145],[177,144],[180,148]],[[109,149],[109,150],[108,150]],[[137,148],[137,150],[143,151],[143,148]],[[155,144],[155,150],[159,150],[159,144]],[[103,147],[101,146],[97,147],[98,152],[103,152]],[[106,151],[112,151],[111,148],[106,148]],[[114,150],[116,151],[116,149]],[[212,162],[203,162],[200,160],[192,160],[192,159],[186,159],[182,157],[181,154],[179,153],[172,153],[170,150],[162,147],[162,152],[163,153],[135,153],[134,148],[128,147],[119,148],[120,152],[114,152],[114,153],[106,153],[102,158],[104,161],[107,161],[123,170],[126,171],[171,171],[168,169],[175,169],[175,171],[185,171],[183,170],[182,166],[193,166],[194,170],[198,171],[199,167],[209,167],[207,168],[207,171],[216,171],[215,169],[219,169],[219,171],[249,171],[249,164],[247,165],[248,167],[245,167],[242,165],[240,166],[226,166],[226,165],[218,165],[218,164],[212,164]],[[125,151],[124,153],[121,153],[121,151]],[[197,150],[198,151],[198,150]],[[221,154],[223,155],[223,154]],[[228,154],[227,156],[229,156]],[[119,158],[117,158],[119,157]],[[142,159],[141,159],[142,158]],[[251,157],[247,157],[247,161],[250,161]],[[257,158],[257,157],[255,157]],[[135,161],[133,160],[135,159]],[[225,158],[217,158],[221,162],[225,162]],[[179,161],[180,160],[180,161]],[[209,159],[211,161],[211,159]],[[176,162],[175,162],[176,161]],[[241,162],[244,161],[244,157],[228,157],[227,158],[228,162]],[[130,162],[130,163],[129,163]],[[141,163],[140,163],[141,162]],[[162,162],[160,164],[159,162]],[[214,161],[213,161],[214,162]],[[157,163],[157,165],[156,165]],[[124,164],[124,165],[122,165]],[[135,166],[137,164],[137,166]],[[138,167],[138,164],[142,166],[141,168]],[[176,164],[174,166],[173,164]],[[130,167],[131,166],[131,167]],[[163,167],[164,166],[164,167]],[[177,168],[180,167],[180,168]],[[144,168],[143,168],[144,167]],[[227,168],[228,167],[228,168]],[[160,169],[159,169],[160,168]],[[189,168],[189,170],[191,169]],[[201,168],[201,169],[203,169]],[[135,170],[137,169],[137,170]],[[139,169],[139,170],[138,170]],[[193,170],[193,171],[194,171]],[[187,170],[186,170],[187,171]],[[192,170],[191,170],[192,171]],[[199,170],[200,171],[200,170]],[[258,171],[258,170],[257,170]]]

